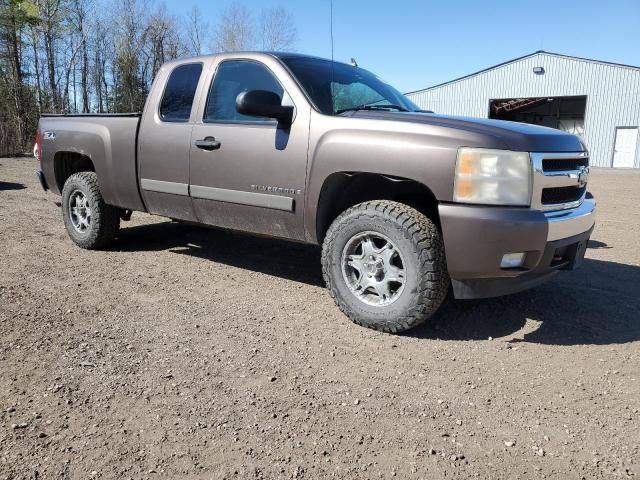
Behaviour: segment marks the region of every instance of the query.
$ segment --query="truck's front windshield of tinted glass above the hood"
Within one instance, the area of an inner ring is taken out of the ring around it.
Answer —
[[[282,61],[298,79],[302,88],[325,115],[352,110],[419,112],[391,85],[362,68],[330,60],[285,57]]]

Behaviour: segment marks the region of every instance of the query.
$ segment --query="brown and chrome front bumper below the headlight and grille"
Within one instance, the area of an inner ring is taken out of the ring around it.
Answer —
[[[541,212],[456,204],[439,206],[447,266],[456,298],[507,295],[575,268],[595,224],[595,200]],[[521,268],[500,268],[507,253],[526,253]]]

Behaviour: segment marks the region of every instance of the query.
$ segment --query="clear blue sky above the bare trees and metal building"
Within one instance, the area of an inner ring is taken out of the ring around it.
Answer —
[[[330,0],[165,0],[181,15],[197,5],[213,28],[239,3],[283,6],[296,51],[331,57]],[[536,50],[640,66],[640,0],[334,0],[334,55],[403,92],[426,88]]]

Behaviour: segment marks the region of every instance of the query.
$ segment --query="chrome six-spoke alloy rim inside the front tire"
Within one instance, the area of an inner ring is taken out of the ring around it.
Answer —
[[[347,286],[367,305],[390,305],[402,294],[406,264],[398,248],[380,233],[351,237],[342,250],[341,264]]]

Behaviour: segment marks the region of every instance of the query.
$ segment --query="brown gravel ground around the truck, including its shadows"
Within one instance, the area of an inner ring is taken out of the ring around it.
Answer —
[[[640,476],[640,174],[596,170],[587,260],[351,324],[319,251],[134,214],[67,238],[33,159],[0,159],[0,478]]]

